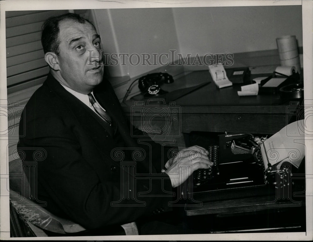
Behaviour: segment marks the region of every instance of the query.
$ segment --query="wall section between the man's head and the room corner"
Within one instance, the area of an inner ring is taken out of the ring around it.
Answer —
[[[171,8],[96,9],[91,11],[96,23],[105,53],[169,53],[179,46]],[[141,58],[142,59],[142,58]],[[134,55],[132,63],[137,63]],[[134,77],[160,66],[158,60],[152,66],[130,65],[110,66],[111,76]],[[166,60],[162,59],[165,63]]]

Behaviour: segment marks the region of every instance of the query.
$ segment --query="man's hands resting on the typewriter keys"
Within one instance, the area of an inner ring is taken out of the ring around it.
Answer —
[[[170,177],[172,187],[178,187],[198,169],[208,169],[213,165],[208,158],[208,151],[200,146],[192,146],[177,152],[176,156],[165,164],[165,173]]]

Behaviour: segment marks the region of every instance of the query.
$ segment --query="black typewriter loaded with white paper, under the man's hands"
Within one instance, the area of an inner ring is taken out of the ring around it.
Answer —
[[[294,142],[304,140],[304,133],[298,130],[301,125],[303,121],[294,122],[269,138],[219,135],[219,144],[207,147],[213,166],[193,172],[187,181],[188,198],[204,202],[288,189],[292,175],[304,163],[304,143]]]

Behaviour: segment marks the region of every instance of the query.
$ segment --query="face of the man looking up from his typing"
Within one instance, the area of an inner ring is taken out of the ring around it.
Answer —
[[[71,89],[88,94],[103,77],[100,36],[88,22],[64,20],[59,23],[59,43],[61,79]]]

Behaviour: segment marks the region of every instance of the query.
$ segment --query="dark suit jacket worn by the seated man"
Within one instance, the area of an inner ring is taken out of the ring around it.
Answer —
[[[124,146],[138,147],[110,83],[104,80],[94,95],[117,122]],[[161,172],[160,145],[147,139],[149,145],[141,146],[146,158],[136,162],[139,172],[158,174],[150,176],[155,178],[137,177],[135,185],[131,169],[121,176],[121,162],[111,157],[118,144],[103,121],[51,74],[28,101],[20,123],[24,124],[19,126],[20,133],[25,133],[18,144],[18,150],[25,152],[23,162],[34,160],[36,148],[45,151],[37,162],[37,185],[32,189],[35,199],[46,201],[50,212],[93,229],[170,210],[172,186]],[[117,203],[112,206],[111,202]]]

